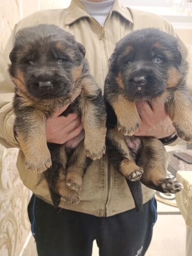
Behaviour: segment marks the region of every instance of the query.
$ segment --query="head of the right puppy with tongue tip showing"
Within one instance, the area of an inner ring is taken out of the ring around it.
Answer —
[[[175,37],[142,29],[117,43],[109,69],[130,100],[150,100],[181,83],[186,61]]]

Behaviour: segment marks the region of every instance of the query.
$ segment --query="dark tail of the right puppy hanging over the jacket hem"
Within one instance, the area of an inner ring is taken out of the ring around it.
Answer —
[[[137,212],[141,212],[143,210],[143,194],[141,189],[141,181],[130,181],[126,179],[126,182],[131,191],[135,204],[135,209]]]

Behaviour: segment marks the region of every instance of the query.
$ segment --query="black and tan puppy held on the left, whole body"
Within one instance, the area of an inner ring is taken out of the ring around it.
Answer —
[[[90,75],[85,48],[58,26],[42,24],[17,33],[10,60],[15,130],[25,167],[34,172],[48,169],[45,176],[54,205],[59,195],[78,203],[87,166],[105,152],[106,133],[104,101]],[[45,122],[78,92],[63,115],[81,116],[85,140],[67,153],[65,145],[47,144]]]

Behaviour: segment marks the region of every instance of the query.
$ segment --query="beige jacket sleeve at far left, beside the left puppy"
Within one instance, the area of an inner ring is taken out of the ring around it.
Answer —
[[[5,147],[19,147],[13,131],[15,121],[15,115],[12,110],[14,85],[8,73],[9,53],[13,47],[15,33],[16,26],[0,58],[0,143]]]

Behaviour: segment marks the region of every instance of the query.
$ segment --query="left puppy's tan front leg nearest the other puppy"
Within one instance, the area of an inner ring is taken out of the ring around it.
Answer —
[[[101,90],[92,76],[87,75],[81,81],[82,122],[85,130],[84,145],[87,156],[99,159],[105,153],[106,112]]]

